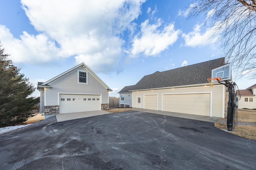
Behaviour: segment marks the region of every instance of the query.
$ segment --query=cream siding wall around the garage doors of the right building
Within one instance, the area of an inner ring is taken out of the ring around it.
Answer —
[[[210,106],[212,107],[212,117],[224,117],[224,92],[221,84],[216,84],[213,87],[209,86],[194,86],[184,88],[166,88],[157,90],[144,90],[132,92],[132,104],[136,106],[136,96],[141,96],[142,107],[144,106],[144,95],[145,94],[158,94],[158,110],[162,110],[162,95],[164,94],[191,94],[191,93],[212,93]]]

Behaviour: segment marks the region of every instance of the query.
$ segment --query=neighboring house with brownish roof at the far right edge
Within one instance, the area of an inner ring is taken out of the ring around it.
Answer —
[[[236,90],[238,109],[256,109],[256,84],[246,88],[246,90]],[[240,97],[239,97],[240,96]]]

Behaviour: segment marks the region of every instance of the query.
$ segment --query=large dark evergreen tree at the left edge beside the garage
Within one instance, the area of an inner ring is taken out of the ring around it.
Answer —
[[[40,99],[30,97],[34,86],[1,47],[0,42],[0,127],[20,125],[34,116],[32,109]]]

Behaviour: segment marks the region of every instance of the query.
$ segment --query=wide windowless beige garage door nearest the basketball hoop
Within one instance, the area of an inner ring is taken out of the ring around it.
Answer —
[[[210,93],[165,94],[163,111],[210,116]]]

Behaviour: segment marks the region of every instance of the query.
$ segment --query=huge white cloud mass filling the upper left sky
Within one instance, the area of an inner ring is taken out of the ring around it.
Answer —
[[[14,38],[5,26],[0,39],[14,63],[50,63],[74,57],[94,70],[111,72],[122,57],[125,29],[134,29],[145,0],[21,0],[30,23],[40,32]],[[97,71],[96,71],[97,72]]]

